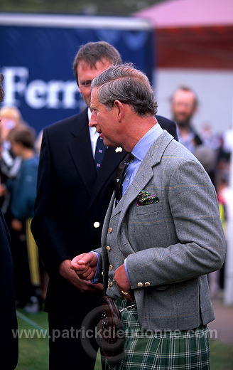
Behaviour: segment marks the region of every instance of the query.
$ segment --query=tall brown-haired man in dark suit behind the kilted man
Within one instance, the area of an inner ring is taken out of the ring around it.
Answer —
[[[70,270],[70,260],[100,244],[104,216],[114,190],[115,171],[126,152],[107,148],[94,163],[99,134],[89,127],[90,85],[110,65],[121,64],[116,49],[104,41],[87,43],[74,61],[77,85],[87,109],[43,130],[38,194],[32,232],[50,276],[45,310],[50,328],[50,370],[94,369],[82,349],[82,321],[99,305],[102,284],[92,285]],[[163,117],[158,118],[163,127]],[[165,120],[166,129],[175,123]],[[75,332],[73,332],[75,329]],[[75,357],[78,352],[79,360]]]

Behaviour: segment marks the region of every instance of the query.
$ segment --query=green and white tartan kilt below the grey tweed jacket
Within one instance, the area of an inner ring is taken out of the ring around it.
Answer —
[[[116,302],[120,310],[132,304]],[[139,324],[136,307],[121,312],[121,321],[125,332],[124,359],[115,365],[106,363],[105,370],[210,369],[206,325],[188,331],[148,331]]]

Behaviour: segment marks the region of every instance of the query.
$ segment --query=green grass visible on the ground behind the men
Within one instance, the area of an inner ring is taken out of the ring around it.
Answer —
[[[23,310],[18,310],[19,315],[23,314],[29,322],[18,316],[18,330],[38,329],[40,338],[34,335],[26,338],[25,335],[19,339],[19,356],[16,370],[48,370],[48,317],[45,312],[37,314],[26,314]],[[233,369],[233,346],[222,344],[215,340],[210,342],[210,369],[211,370],[232,370]],[[99,356],[94,370],[102,370]]]

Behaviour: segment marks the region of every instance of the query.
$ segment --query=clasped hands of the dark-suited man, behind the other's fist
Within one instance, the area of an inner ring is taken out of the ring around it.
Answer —
[[[70,282],[70,284],[75,285],[80,292],[98,292],[99,290],[103,290],[102,284],[92,284],[90,280],[85,281],[80,279],[80,277],[70,269],[71,260],[63,260],[59,266],[59,273],[66,280]]]

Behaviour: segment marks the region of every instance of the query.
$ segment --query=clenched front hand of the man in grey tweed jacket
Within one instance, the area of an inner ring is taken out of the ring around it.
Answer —
[[[80,279],[91,280],[97,270],[98,257],[95,253],[82,253],[72,259],[70,268]]]

